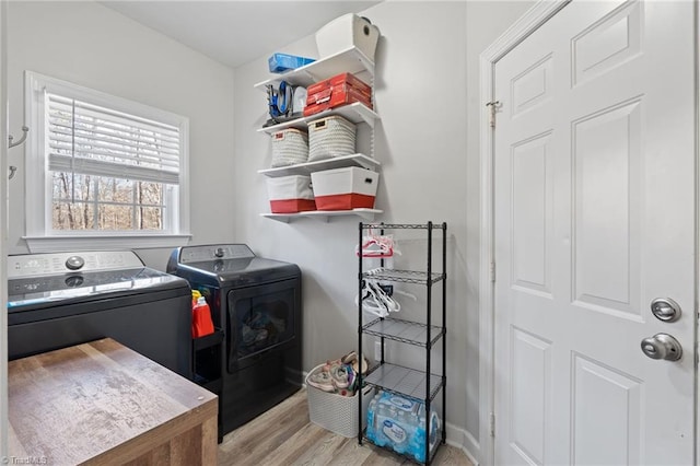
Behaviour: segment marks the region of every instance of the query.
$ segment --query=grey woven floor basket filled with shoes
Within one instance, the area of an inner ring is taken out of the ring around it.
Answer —
[[[320,371],[325,364],[317,365],[306,375],[306,395],[308,399],[308,418],[313,423],[338,435],[358,436],[358,396],[341,396],[324,392],[308,384],[311,374]],[[362,389],[362,429],[368,424],[368,407],[374,397],[371,385]]]

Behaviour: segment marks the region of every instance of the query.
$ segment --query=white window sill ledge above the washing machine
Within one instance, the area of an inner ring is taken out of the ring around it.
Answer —
[[[148,249],[153,247],[185,246],[191,235],[136,235],[119,236],[66,235],[66,236],[23,236],[31,253],[56,253],[71,249]]]

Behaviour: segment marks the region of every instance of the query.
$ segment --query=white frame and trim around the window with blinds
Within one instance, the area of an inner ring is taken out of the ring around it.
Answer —
[[[25,116],[30,132],[25,148],[26,232],[23,240],[26,241],[30,251],[42,253],[84,249],[88,244],[91,249],[175,247],[187,244],[191,236],[189,230],[188,118],[34,71],[26,70],[24,74]],[[166,189],[171,193],[166,193],[164,198],[164,205],[168,207],[167,215],[164,215],[164,231],[69,231],[61,233],[52,230],[51,199],[49,199],[52,182],[51,172],[48,168],[47,103],[44,91],[178,128],[180,137],[179,183],[177,196],[172,193],[173,189]],[[37,206],[42,206],[42,208],[37,208]],[[168,220],[167,228],[165,228],[165,217]]]

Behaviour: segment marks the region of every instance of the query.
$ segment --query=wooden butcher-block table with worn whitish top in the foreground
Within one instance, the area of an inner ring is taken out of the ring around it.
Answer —
[[[16,461],[217,464],[217,396],[110,338],[10,361],[8,391]]]

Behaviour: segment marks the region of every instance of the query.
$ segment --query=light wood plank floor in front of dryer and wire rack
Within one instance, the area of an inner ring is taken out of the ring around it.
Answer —
[[[308,420],[306,391],[230,432],[219,445],[220,465],[402,465],[412,464],[357,439],[337,435]],[[433,465],[471,466],[454,446],[441,445]]]

